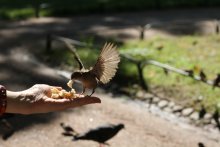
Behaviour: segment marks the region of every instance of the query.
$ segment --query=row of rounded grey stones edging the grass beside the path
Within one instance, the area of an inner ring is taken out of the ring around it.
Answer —
[[[219,129],[220,131],[220,126],[218,126],[219,124],[213,118],[213,114],[211,113],[205,112],[201,117],[200,112],[196,111],[194,108],[175,104],[173,101],[170,101],[166,98],[160,98],[144,91],[138,91],[135,97],[141,101],[147,102],[149,109],[151,105],[155,105],[163,111],[173,113],[177,117],[184,117],[188,119],[190,123],[203,127],[205,130]],[[220,122],[220,117],[218,120]]]

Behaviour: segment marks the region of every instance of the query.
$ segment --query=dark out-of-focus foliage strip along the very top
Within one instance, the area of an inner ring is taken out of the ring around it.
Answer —
[[[40,7],[43,16],[67,16],[100,12],[121,12],[179,7],[220,6],[219,0],[0,0],[0,18],[17,19],[34,16]]]

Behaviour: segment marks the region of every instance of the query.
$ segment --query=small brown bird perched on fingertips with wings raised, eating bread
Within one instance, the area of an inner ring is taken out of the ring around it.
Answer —
[[[106,84],[114,77],[118,63],[120,62],[120,57],[116,46],[111,43],[106,43],[94,67],[85,69],[79,58],[77,61],[80,64],[80,70],[72,73],[71,80],[78,80],[82,83],[82,94],[86,88],[92,89],[93,94],[98,83]]]

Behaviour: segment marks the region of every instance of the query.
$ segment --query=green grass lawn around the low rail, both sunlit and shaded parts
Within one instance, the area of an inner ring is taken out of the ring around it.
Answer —
[[[137,59],[153,59],[179,69],[193,69],[196,66],[204,70],[209,80],[213,80],[220,73],[219,42],[220,36],[217,35],[166,38],[157,36],[147,41],[127,42],[119,46],[119,50],[120,53],[130,54]],[[85,66],[90,67],[95,64],[99,50],[78,48],[78,53]],[[68,67],[78,66],[66,49],[54,49],[51,55],[55,65],[61,63]],[[220,103],[220,88],[213,90],[212,86],[173,72],[165,75],[163,69],[153,65],[144,68],[144,78],[151,92],[185,106],[199,107],[194,103],[199,97],[204,98],[202,103],[210,111]],[[114,81],[123,88],[137,84],[136,66],[122,58]]]

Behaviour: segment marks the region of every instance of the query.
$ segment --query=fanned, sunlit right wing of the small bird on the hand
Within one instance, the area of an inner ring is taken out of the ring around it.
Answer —
[[[105,43],[91,72],[96,75],[100,82],[106,84],[115,75],[119,62],[120,57],[116,46],[111,43]]]

